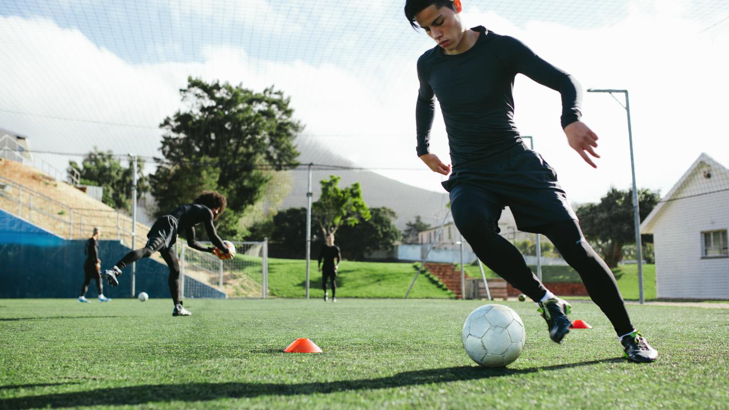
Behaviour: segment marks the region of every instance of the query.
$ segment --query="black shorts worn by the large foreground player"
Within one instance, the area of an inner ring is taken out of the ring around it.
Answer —
[[[483,161],[459,165],[443,187],[451,193],[451,205],[459,198],[483,202],[496,232],[507,206],[516,226],[524,232],[535,232],[537,226],[566,219],[577,220],[554,168],[523,144]]]

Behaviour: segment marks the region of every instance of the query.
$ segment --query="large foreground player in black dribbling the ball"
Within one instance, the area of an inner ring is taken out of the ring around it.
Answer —
[[[597,135],[580,121],[580,84],[539,58],[529,47],[483,26],[461,23],[460,0],[407,0],[405,16],[423,28],[437,46],[418,58],[417,153],[434,172],[451,174],[443,187],[451,194],[453,221],[478,258],[539,304],[550,338],[569,333],[570,305],[547,290],[519,251],[499,235],[501,211],[509,206],[518,228],[545,234],[582,277],[590,297],[607,315],[630,360],[650,362],[650,347],[628,317],[623,296],[607,265],[582,236],[580,225],[555,170],[523,144],[514,123],[512,87],[524,74],[561,95],[561,125],[569,146],[599,158]],[[429,152],[438,98],[448,133],[452,165]]]

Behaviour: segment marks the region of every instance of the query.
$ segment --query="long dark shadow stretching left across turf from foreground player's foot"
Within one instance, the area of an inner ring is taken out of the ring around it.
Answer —
[[[110,387],[83,392],[56,393],[48,395],[9,398],[0,401],[3,409],[30,409],[36,407],[75,406],[139,406],[164,401],[212,401],[219,398],[255,398],[262,395],[291,396],[314,393],[340,393],[353,390],[375,390],[392,387],[429,385],[432,383],[461,382],[491,377],[529,374],[539,371],[553,371],[599,363],[623,363],[623,358],[590,360],[534,368],[483,368],[479,366],[456,366],[451,368],[429,368],[404,371],[389,377],[377,379],[342,380],[339,382],[311,383],[187,383],[184,385],[141,385]]]

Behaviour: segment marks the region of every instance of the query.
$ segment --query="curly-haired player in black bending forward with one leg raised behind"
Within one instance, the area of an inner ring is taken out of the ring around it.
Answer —
[[[177,233],[184,232],[187,237],[187,245],[198,251],[214,253],[216,248],[220,249],[226,255],[229,253],[228,248],[223,245],[222,240],[218,236],[213,221],[225,211],[227,200],[217,192],[203,192],[199,197],[195,198],[194,203],[180,205],[171,213],[161,216],[147,234],[147,245],[144,248],[130,251],[122,260],[118,261],[112,269],[107,269],[101,275],[106,278],[110,285],[119,284],[118,278],[122,275],[122,269],[127,267],[134,261],[142,258],[149,258],[152,253],[157,251],[162,255],[167,266],[170,268],[168,284],[170,285],[170,294],[175,308],[172,311],[173,316],[190,316],[189,310],[182,307],[182,295],[180,294],[180,267],[177,261],[177,255],[172,248],[177,241]],[[202,223],[205,231],[208,233],[211,242],[215,247],[206,247],[195,240],[195,225]]]

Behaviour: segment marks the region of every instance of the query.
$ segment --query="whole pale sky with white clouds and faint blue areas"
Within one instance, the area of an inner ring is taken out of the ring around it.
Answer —
[[[397,3],[397,4],[396,4]],[[415,155],[416,59],[432,47],[393,1],[0,0],[0,128],[33,149],[157,155],[187,76],[290,95],[310,138],[358,166],[439,190]],[[639,186],[701,152],[729,165],[729,2],[465,1],[464,20],[521,39],[585,89],[628,89]],[[313,5],[312,5],[313,4]],[[707,29],[708,28],[708,29]],[[566,145],[556,92],[518,76],[516,120],[575,202],[631,181],[625,110],[585,94],[593,170]],[[434,152],[448,157],[440,114]],[[67,157],[44,156],[63,168]],[[327,159],[317,162],[326,164]]]

